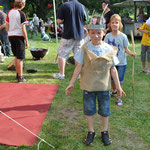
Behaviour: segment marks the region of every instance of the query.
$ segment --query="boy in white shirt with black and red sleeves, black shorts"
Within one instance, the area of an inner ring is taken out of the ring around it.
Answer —
[[[25,58],[25,45],[28,45],[26,32],[27,19],[23,11],[25,0],[15,0],[14,8],[11,9],[6,17],[6,27],[8,31],[11,49],[15,56],[16,79],[18,82],[26,82],[23,77],[23,59]],[[25,44],[24,44],[25,40]]]

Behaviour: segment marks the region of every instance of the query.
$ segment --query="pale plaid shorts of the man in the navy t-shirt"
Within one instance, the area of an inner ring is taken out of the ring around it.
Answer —
[[[83,40],[61,38],[59,49],[58,49],[58,57],[67,59],[71,51],[73,51],[75,55],[80,50],[82,43],[83,43]]]

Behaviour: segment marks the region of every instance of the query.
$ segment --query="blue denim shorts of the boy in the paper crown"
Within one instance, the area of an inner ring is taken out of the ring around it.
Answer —
[[[88,92],[83,91],[83,112],[87,116],[96,114],[96,100],[98,102],[98,114],[107,117],[110,112],[110,93],[109,91]]]

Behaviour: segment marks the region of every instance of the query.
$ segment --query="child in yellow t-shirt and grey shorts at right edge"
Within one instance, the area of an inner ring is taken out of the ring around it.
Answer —
[[[150,18],[139,28],[139,31],[143,32],[141,41],[142,70],[140,72],[144,72],[146,75],[150,75]],[[148,61],[147,71],[145,69],[146,53]]]

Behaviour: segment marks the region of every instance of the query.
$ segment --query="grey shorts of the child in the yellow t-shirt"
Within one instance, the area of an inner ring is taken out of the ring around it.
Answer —
[[[146,61],[146,53],[147,53],[147,61],[150,62],[150,46],[142,45],[141,46],[141,61]]]

